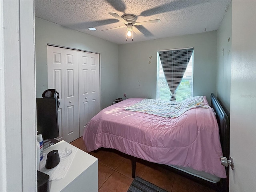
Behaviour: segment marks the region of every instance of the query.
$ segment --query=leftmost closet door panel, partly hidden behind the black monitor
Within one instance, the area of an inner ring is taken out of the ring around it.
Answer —
[[[60,96],[60,106],[58,108],[58,123],[60,136],[57,140],[63,140],[65,126],[65,91],[64,91],[64,49],[47,46],[48,64],[48,89],[56,89]]]

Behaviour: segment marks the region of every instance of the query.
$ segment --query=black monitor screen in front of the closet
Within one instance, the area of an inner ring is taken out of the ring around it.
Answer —
[[[37,134],[42,134],[43,140],[59,136],[57,101],[57,98],[36,98]]]

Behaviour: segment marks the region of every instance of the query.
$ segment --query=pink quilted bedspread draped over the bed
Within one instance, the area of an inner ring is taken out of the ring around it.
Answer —
[[[178,118],[124,110],[140,100],[126,99],[94,116],[84,131],[87,150],[114,148],[150,162],[189,167],[226,178],[212,108],[194,108]],[[208,105],[205,96],[204,104]]]

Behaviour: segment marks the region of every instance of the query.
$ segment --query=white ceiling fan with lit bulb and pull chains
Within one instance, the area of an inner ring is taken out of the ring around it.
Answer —
[[[124,14],[122,16],[119,16],[116,13],[108,13],[111,16],[113,16],[114,18],[120,20],[121,22],[123,22],[125,24],[125,26],[119,26],[119,27],[114,27],[114,28],[110,28],[110,29],[105,29],[102,31],[106,31],[106,30],[114,30],[114,29],[119,29],[119,28],[124,28],[126,27],[126,41],[127,41],[127,36],[132,36],[132,41],[133,41],[133,32],[136,33],[137,35],[144,35],[142,32],[140,32],[135,26],[138,25],[144,25],[144,24],[149,24],[149,23],[157,23],[157,22],[161,22],[160,19],[154,19],[154,20],[148,20],[148,21],[143,21],[143,22],[136,22],[136,19],[138,18],[136,15],[134,14]]]

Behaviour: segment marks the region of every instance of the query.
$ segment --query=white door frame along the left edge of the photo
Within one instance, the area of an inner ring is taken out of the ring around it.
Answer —
[[[36,191],[34,0],[0,1],[0,36],[0,191]]]

